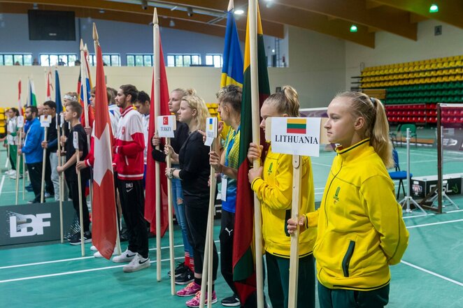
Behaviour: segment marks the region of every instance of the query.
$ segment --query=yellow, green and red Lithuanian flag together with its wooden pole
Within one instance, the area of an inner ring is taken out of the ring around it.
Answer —
[[[236,224],[234,230],[233,278],[241,305],[257,305],[257,307],[263,308],[262,219],[259,200],[253,196],[248,182],[249,163],[247,154],[250,142],[260,143],[262,132],[259,129],[259,108],[264,99],[269,96],[270,87],[257,1],[250,0],[248,8],[235,212],[235,219],[240,223]],[[260,161],[255,159],[253,168],[258,169],[259,165]],[[254,207],[252,207],[252,204],[254,204]],[[254,221],[252,221],[251,217],[254,217]],[[253,242],[255,247],[252,247]],[[257,302],[257,304],[252,302]]]

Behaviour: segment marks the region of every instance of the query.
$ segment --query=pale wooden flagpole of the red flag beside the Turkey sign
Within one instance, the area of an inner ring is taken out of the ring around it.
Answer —
[[[152,40],[153,40],[153,76],[155,79],[155,117],[159,116],[161,110],[161,95],[159,93],[161,89],[161,76],[159,75],[159,24],[157,20],[157,9],[152,16]],[[159,149],[159,145],[156,147]],[[156,179],[156,269],[157,269],[157,281],[161,281],[161,176],[159,170],[159,162],[155,162],[155,179]],[[175,276],[171,272],[171,276]]]

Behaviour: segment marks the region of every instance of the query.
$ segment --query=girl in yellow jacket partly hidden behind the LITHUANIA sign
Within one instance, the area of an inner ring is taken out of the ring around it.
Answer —
[[[299,117],[297,92],[289,86],[266,99],[261,109],[260,124],[265,130],[267,117]],[[259,159],[261,147],[251,143],[248,158]],[[311,160],[301,156],[301,213],[315,211]],[[264,167],[250,170],[249,180],[262,207],[262,237],[269,277],[269,298],[273,308],[286,308],[288,302],[290,234],[287,219],[292,206],[292,155],[267,152]],[[316,229],[311,228],[299,237],[299,281],[297,307],[315,307],[315,265],[313,244]]]

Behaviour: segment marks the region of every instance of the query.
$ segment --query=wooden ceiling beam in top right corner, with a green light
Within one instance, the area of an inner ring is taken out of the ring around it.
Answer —
[[[463,5],[461,0],[428,1],[428,0],[376,0],[387,6],[407,10],[408,12],[422,15],[432,20],[446,22],[463,29]],[[429,13],[429,6],[436,3],[439,6],[438,13]]]

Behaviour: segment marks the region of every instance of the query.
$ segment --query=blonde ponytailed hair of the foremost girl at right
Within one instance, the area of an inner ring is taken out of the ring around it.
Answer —
[[[365,120],[364,138],[370,138],[370,145],[380,156],[386,168],[394,166],[392,159],[392,143],[389,139],[389,124],[383,103],[378,98],[369,97],[361,92],[346,91],[335,98],[348,98],[354,117]]]

